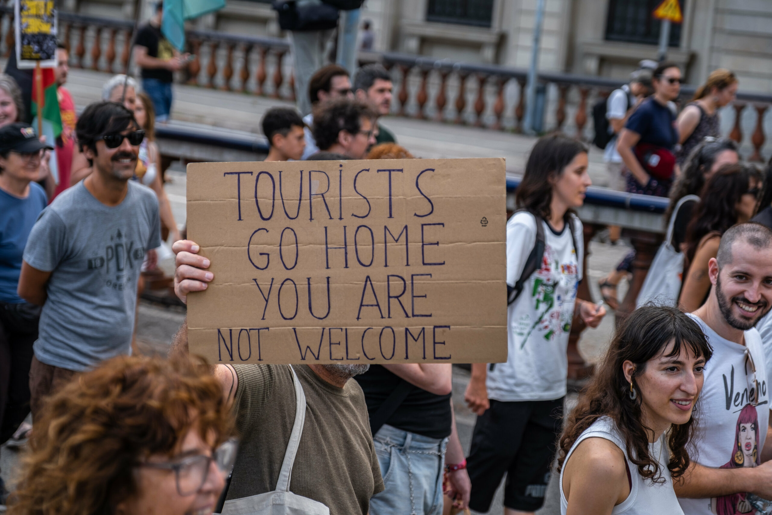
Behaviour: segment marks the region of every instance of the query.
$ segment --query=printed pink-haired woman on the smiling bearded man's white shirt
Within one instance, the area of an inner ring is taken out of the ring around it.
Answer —
[[[740,410],[735,427],[735,438],[729,462],[722,469],[754,467],[760,464],[759,453],[759,417],[756,407],[747,404]],[[728,496],[713,497],[710,509],[716,515],[736,515],[736,513],[756,513],[751,504],[749,493],[733,493]]]

